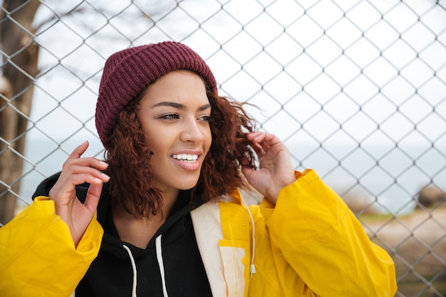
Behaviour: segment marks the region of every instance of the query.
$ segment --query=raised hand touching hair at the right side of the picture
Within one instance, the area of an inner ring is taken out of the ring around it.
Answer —
[[[242,166],[242,172],[254,189],[276,204],[280,190],[296,181],[289,150],[272,134],[258,131],[247,137],[259,158],[259,170]]]

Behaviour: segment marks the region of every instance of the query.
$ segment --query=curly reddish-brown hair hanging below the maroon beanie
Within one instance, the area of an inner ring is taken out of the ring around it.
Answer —
[[[120,112],[113,132],[104,143],[111,197],[134,217],[160,214],[163,203],[160,189],[154,186],[147,139],[135,113],[145,90]],[[255,167],[251,142],[245,135],[255,129],[255,121],[243,108],[247,103],[221,97],[208,86],[207,98],[212,106],[209,122],[212,144],[197,185],[191,191],[191,199],[192,195],[198,195],[203,202],[248,187],[240,166],[243,162],[244,166]]]

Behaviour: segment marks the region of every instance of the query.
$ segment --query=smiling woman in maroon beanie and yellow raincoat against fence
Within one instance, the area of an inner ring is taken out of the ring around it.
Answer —
[[[95,117],[105,162],[84,142],[0,229],[1,296],[395,294],[388,254],[187,46],[110,56]]]

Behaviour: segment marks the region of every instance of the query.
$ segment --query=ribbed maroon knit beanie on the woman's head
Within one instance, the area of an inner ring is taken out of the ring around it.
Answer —
[[[127,48],[105,61],[95,115],[96,129],[104,145],[125,105],[157,78],[177,69],[195,71],[210,88],[217,88],[204,60],[174,41]]]

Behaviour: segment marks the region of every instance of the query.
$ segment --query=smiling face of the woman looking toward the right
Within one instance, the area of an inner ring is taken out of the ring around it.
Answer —
[[[157,188],[167,194],[195,187],[212,142],[202,78],[185,70],[163,75],[147,88],[136,115],[152,152]]]

